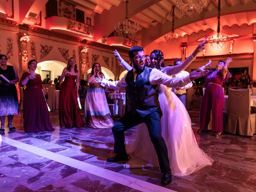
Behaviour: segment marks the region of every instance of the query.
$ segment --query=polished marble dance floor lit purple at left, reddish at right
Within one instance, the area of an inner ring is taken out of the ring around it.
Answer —
[[[256,136],[199,136],[199,114],[190,116],[198,145],[214,163],[189,176],[173,176],[171,184],[162,186],[158,168],[126,170],[124,162],[105,161],[113,156],[111,129],[59,128],[54,111],[54,132],[25,133],[21,113],[13,121],[17,130],[8,132],[6,126],[0,136],[0,191],[255,192]]]

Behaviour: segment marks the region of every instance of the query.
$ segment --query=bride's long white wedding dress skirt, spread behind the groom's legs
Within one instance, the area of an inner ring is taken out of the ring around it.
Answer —
[[[163,116],[162,136],[168,148],[170,168],[175,176],[186,176],[213,160],[198,147],[188,112],[179,98],[164,85],[159,85],[159,102]],[[131,159],[124,168],[159,167],[158,157],[146,124],[138,125],[126,143]]]

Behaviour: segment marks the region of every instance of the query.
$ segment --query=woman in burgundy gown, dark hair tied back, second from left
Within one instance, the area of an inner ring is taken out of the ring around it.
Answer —
[[[54,131],[46,105],[42,80],[36,74],[37,62],[28,62],[28,72],[20,78],[20,86],[26,86],[23,98],[23,126],[25,132]]]

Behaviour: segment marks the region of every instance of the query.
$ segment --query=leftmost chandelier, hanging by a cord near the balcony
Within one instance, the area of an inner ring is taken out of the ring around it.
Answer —
[[[138,32],[139,25],[138,23],[134,23],[134,27],[131,26],[130,22],[128,21],[128,0],[125,1],[126,3],[126,10],[125,10],[125,22],[121,23],[118,22],[118,25],[115,24],[115,32],[118,36],[122,38],[128,38],[135,40],[135,34]]]

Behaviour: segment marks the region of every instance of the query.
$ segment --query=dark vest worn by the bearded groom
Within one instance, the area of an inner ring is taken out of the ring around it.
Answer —
[[[137,110],[142,116],[146,116],[155,110],[160,110],[158,102],[158,84],[152,85],[149,82],[149,76],[152,68],[145,67],[138,74],[136,82],[134,82],[133,70],[130,70],[125,78],[127,84],[127,94],[130,96],[131,110]],[[161,112],[161,110],[160,110]]]

